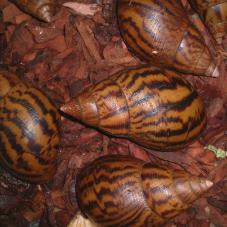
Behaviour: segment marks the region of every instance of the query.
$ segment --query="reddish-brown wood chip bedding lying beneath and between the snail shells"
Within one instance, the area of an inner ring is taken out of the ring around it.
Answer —
[[[105,1],[58,2],[67,7],[62,6],[54,20],[46,24],[12,3],[0,1],[0,63],[42,89],[60,106],[87,86],[141,62],[124,45],[114,15],[108,14],[111,23],[103,16]],[[227,49],[227,38],[223,45]],[[226,68],[223,64],[222,72]],[[30,190],[24,186],[22,192],[7,191],[0,185],[4,200],[0,226],[67,226],[78,211],[76,174],[88,162],[107,154],[130,154],[208,177],[215,186],[166,226],[227,226],[227,161],[206,149],[212,145],[227,151],[227,75],[222,73],[217,79],[186,77],[207,107],[208,125],[201,138],[179,152],[148,153],[126,139],[109,137],[63,116],[55,178],[48,187]],[[13,188],[11,184],[9,187]],[[13,214],[9,214],[11,211]]]

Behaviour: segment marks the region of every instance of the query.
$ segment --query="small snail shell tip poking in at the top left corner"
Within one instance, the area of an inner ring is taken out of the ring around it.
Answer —
[[[51,22],[57,3],[54,0],[10,0],[24,12],[42,20]]]

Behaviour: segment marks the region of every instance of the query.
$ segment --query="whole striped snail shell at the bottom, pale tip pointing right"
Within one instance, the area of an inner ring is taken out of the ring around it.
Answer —
[[[98,226],[159,226],[212,185],[186,171],[109,155],[79,172],[76,195],[82,214]]]

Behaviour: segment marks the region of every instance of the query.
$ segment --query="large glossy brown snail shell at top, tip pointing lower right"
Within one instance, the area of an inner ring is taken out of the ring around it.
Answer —
[[[219,76],[218,64],[178,0],[118,0],[126,46],[141,60],[180,72]]]

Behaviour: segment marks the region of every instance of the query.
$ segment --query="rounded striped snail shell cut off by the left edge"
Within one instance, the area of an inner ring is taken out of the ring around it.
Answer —
[[[0,69],[0,165],[30,183],[56,172],[60,114],[40,90]]]

